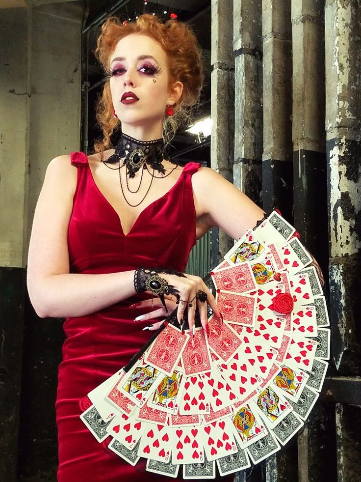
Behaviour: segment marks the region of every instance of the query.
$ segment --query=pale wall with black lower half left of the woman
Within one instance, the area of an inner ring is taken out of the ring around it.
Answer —
[[[0,480],[8,482],[17,471],[55,478],[63,335],[29,306],[25,268],[45,170],[79,149],[82,16],[80,2],[0,10]]]

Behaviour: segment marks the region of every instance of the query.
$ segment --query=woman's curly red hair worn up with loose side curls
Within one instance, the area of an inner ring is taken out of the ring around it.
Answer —
[[[170,85],[180,81],[183,92],[174,105],[174,115],[166,117],[163,137],[168,143],[174,137],[180,123],[189,121],[190,108],[197,104],[203,83],[201,48],[192,30],[182,22],[168,20],[162,23],[155,15],[141,15],[135,22],[123,25],[117,17],[109,17],[102,26],[95,55],[109,73],[110,57],[120,39],[131,33],[148,35],[157,41],[168,57]],[[110,137],[117,127],[118,118],[113,117],[109,79],[104,83],[103,93],[96,105],[97,120],[103,131],[103,139],[94,143],[94,150],[101,154],[111,147]]]

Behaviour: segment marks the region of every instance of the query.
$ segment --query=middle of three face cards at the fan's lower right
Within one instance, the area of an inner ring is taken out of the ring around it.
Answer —
[[[273,428],[292,411],[292,405],[276,391],[274,386],[268,385],[258,389],[258,397],[250,400],[249,406],[263,417],[266,425]]]

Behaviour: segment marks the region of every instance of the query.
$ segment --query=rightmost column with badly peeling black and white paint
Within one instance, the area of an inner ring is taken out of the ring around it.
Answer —
[[[361,336],[361,5],[327,0],[326,150],[333,358],[339,375],[359,375]]]

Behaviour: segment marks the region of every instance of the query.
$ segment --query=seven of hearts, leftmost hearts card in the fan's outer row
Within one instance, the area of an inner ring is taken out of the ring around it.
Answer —
[[[134,410],[129,417],[124,413],[116,415],[106,427],[108,434],[128,450],[132,450],[143,435],[144,423],[136,418],[138,410]]]

